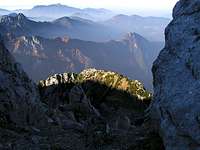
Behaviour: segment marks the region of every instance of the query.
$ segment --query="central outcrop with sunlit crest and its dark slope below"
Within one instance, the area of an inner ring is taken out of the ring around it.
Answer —
[[[137,80],[87,69],[50,76],[40,81],[39,89],[49,114],[66,117],[62,128],[79,132],[82,149],[162,149],[160,138],[144,125],[151,94]]]

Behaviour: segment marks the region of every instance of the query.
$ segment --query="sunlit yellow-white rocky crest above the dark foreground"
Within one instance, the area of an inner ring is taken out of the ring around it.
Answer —
[[[49,89],[48,87],[52,89],[52,87],[57,87],[60,85],[65,85],[65,88],[62,88],[63,90],[66,90],[66,86],[71,89],[74,85],[82,85],[88,96],[90,96],[92,93],[96,93],[99,94],[98,97],[102,96],[102,98],[105,98],[104,94],[108,94],[112,90],[118,90],[120,92],[125,92],[132,97],[135,97],[135,99],[140,102],[149,103],[151,99],[151,94],[145,90],[142,83],[137,80],[130,80],[125,76],[111,71],[86,69],[79,74],[55,74],[47,78],[47,80],[42,80],[39,82],[39,87],[45,89],[45,92],[48,91],[46,90]],[[95,86],[97,89],[95,89]],[[104,94],[98,93],[98,86],[105,87],[100,89],[101,92],[105,91]],[[45,92],[42,91],[43,94]],[[52,94],[51,91],[48,93]]]

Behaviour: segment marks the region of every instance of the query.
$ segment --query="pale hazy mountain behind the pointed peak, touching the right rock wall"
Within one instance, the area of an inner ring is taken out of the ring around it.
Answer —
[[[136,32],[149,40],[164,41],[164,29],[170,22],[168,18],[141,17],[138,15],[117,15],[103,24],[121,32]]]

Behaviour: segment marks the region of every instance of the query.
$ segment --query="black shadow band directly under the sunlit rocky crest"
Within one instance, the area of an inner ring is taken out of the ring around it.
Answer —
[[[106,84],[93,80],[87,80],[82,83],[60,83],[47,87],[41,87],[39,85],[42,101],[48,103],[52,99],[52,103],[58,105],[70,103],[70,94],[74,91],[73,89],[75,87],[79,88],[76,89],[77,93],[73,94],[81,93],[82,97],[80,97],[80,100],[86,96],[95,108],[99,108],[101,104],[105,103],[116,109],[125,108],[142,113],[151,102],[151,97],[141,100],[128,91],[109,87]],[[54,105],[54,107],[56,106]]]

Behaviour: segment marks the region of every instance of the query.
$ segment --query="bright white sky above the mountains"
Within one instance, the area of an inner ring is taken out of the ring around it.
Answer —
[[[178,0],[0,0],[0,8],[20,9],[32,8],[34,5],[61,3],[73,7],[107,8],[127,12],[146,11],[166,12],[171,10]]]

